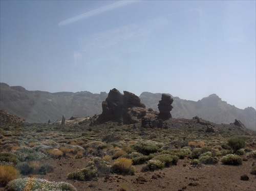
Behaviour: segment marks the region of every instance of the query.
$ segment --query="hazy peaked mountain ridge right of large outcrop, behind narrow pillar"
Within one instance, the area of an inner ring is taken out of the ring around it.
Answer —
[[[147,108],[151,107],[154,110],[158,110],[157,104],[161,99],[161,95],[161,93],[143,92],[139,98]],[[197,102],[182,100],[178,97],[173,97],[173,99],[174,102],[172,106],[174,108],[171,113],[174,118],[192,118],[198,115],[204,120],[217,124],[233,123],[237,118],[245,124],[247,128],[255,130],[256,111],[252,107],[245,109],[236,108],[222,101],[216,94],[211,94],[209,97],[203,98]]]

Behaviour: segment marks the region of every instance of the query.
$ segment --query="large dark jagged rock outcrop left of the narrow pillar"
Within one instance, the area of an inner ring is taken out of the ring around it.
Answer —
[[[135,124],[146,115],[147,109],[134,93],[124,91],[121,94],[116,88],[110,90],[108,98],[102,102],[102,113],[97,122],[117,121],[121,124]]]

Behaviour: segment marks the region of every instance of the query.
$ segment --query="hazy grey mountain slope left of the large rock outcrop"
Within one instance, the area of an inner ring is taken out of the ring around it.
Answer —
[[[101,103],[108,97],[106,92],[93,94],[88,91],[57,92],[28,91],[21,86],[0,83],[0,108],[22,116],[30,123],[56,121],[62,115],[93,116],[101,113]]]

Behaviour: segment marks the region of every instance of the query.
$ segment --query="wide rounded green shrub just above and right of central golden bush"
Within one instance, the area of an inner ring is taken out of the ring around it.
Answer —
[[[159,146],[153,142],[137,142],[133,145],[133,148],[143,155],[149,155],[151,153],[156,153]]]

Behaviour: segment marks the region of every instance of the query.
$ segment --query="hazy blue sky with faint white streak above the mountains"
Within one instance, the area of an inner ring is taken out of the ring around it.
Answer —
[[[255,1],[1,1],[1,82],[255,108],[255,41]]]

